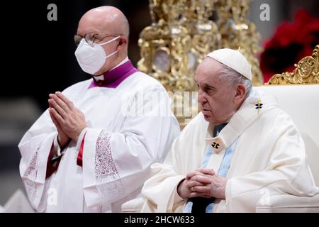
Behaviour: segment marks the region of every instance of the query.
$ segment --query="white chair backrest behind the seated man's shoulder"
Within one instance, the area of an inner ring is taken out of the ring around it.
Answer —
[[[306,145],[308,165],[319,186],[319,84],[264,85],[259,90],[274,94],[296,124]]]

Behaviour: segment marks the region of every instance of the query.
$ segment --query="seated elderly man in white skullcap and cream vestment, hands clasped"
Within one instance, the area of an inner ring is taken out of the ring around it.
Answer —
[[[174,140],[164,163],[152,165],[145,199],[128,201],[123,211],[254,212],[267,196],[319,192],[298,129],[251,79],[239,51],[208,54],[195,75],[201,113]]]

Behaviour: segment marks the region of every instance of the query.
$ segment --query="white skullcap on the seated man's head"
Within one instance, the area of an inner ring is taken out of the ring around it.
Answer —
[[[224,48],[210,52],[207,56],[227,65],[247,79],[252,80],[252,68],[250,67],[250,63],[248,63],[246,57],[238,50]]]

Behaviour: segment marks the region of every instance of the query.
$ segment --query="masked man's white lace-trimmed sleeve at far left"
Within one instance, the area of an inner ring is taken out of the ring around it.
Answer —
[[[43,211],[47,160],[57,131],[48,111],[38,118],[23,135],[18,148],[21,152],[20,175],[33,208]]]

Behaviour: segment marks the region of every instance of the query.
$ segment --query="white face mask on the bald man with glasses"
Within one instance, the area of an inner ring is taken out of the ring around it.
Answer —
[[[117,36],[116,38],[113,38],[105,43],[94,43],[93,45],[89,45],[88,43],[86,43],[84,38],[82,38],[79,46],[77,47],[77,50],[75,50],[74,53],[75,57],[77,57],[77,62],[79,62],[79,66],[82,68],[82,70],[89,74],[94,74],[101,70],[101,67],[103,67],[106,62],[106,58],[111,57],[112,55],[115,55],[116,52],[118,52],[118,50],[116,50],[116,52],[113,52],[110,55],[106,56],[102,45],[111,43],[118,38],[120,38],[120,36]]]

